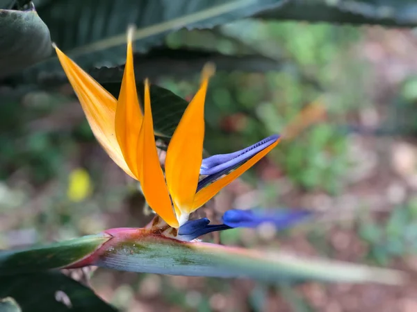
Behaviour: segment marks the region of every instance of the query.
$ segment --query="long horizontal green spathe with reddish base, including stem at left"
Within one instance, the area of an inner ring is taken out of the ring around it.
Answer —
[[[325,259],[293,257],[199,241],[183,242],[155,229],[108,229],[62,243],[0,253],[0,275],[99,266],[167,275],[242,277],[277,283],[329,281],[400,284],[402,272]]]

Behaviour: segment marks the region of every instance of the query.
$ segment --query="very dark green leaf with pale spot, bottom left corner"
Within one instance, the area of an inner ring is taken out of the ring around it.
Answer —
[[[94,291],[59,272],[0,276],[0,297],[13,297],[22,310],[54,312],[115,312]],[[1,304],[1,302],[0,302]]]

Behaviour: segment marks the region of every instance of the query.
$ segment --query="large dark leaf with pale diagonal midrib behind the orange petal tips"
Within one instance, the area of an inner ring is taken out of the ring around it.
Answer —
[[[161,44],[181,27],[211,28],[284,0],[56,0],[38,7],[54,42],[83,68],[124,63],[126,28],[136,24],[136,49]],[[60,70],[57,58],[33,69]]]

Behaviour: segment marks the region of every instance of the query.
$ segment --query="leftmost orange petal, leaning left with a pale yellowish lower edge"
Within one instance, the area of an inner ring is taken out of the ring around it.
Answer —
[[[122,150],[120,150],[115,136],[116,99],[57,46],[54,45],[54,48],[60,64],[79,98],[92,133],[111,159],[133,177],[129,166],[124,161]]]

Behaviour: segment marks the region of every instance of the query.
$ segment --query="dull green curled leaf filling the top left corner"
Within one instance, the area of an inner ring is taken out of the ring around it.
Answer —
[[[0,78],[51,55],[49,29],[32,6],[29,10],[0,9]]]

